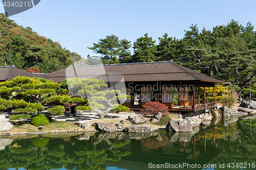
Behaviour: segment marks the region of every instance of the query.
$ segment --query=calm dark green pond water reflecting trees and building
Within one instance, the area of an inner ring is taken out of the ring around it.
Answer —
[[[0,169],[255,169],[256,119],[237,120],[212,120],[194,133],[0,138]]]

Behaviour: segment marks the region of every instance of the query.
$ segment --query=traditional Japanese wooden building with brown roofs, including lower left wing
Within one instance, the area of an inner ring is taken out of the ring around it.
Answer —
[[[130,95],[131,99],[117,102],[131,110],[139,110],[150,101],[162,103],[168,106],[169,111],[181,113],[214,108],[214,86],[223,83],[172,61],[93,66],[78,64],[51,74],[30,74],[17,70],[15,67],[0,67],[0,80],[27,76],[60,83],[69,78],[97,78]],[[120,82],[123,85],[120,86]]]

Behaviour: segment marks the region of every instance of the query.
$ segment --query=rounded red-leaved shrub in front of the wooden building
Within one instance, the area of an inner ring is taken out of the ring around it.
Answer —
[[[140,112],[142,112],[143,115],[156,114],[158,112],[162,112],[163,115],[169,113],[168,107],[159,102],[147,102],[143,105],[142,109],[140,109]]]

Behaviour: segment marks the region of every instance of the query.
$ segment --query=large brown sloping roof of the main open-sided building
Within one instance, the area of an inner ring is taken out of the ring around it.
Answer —
[[[102,79],[103,81],[108,81],[109,79],[110,82],[118,82],[120,80],[118,75],[123,75],[125,82],[200,80],[222,83],[222,81],[170,61],[97,66],[84,66],[78,64],[74,67],[68,67],[52,72],[46,76],[46,79],[61,82],[62,80],[71,78],[75,74],[77,75],[77,78],[97,78]],[[105,76],[106,74],[108,75],[108,78]]]

